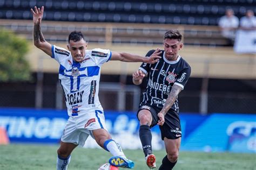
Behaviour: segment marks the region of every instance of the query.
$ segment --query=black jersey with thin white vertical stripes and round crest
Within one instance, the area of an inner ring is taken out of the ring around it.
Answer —
[[[149,51],[146,56],[150,56],[154,50]],[[173,84],[177,84],[182,89],[190,77],[191,67],[188,63],[178,56],[176,61],[169,61],[165,58],[162,51],[161,59],[157,63],[142,63],[139,67],[147,74],[147,87],[143,92],[140,105],[147,103],[156,107],[163,108],[167,97],[170,94]],[[171,107],[174,111],[179,111],[178,98]]]

